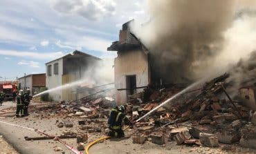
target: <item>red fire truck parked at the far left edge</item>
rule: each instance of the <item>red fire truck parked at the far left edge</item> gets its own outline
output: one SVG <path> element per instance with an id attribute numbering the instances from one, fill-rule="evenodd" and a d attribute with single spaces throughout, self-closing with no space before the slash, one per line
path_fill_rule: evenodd
<path id="1" fill-rule="evenodd" d="M 6 94 L 6 99 L 12 99 L 13 91 L 17 90 L 16 82 L 3 81 L 0 83 L 0 91 Z"/>

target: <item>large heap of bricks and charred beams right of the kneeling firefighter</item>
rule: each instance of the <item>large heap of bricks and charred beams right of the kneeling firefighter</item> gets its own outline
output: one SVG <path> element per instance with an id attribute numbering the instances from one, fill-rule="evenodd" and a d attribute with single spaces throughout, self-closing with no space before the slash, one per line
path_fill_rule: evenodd
<path id="1" fill-rule="evenodd" d="M 253 120 L 252 110 L 241 101 L 228 99 L 224 88 L 228 85 L 219 84 L 228 77 L 228 74 L 224 74 L 212 79 L 200 91 L 193 92 L 193 99 L 184 94 L 169 106 L 158 108 L 152 115 L 137 122 L 133 142 L 143 144 L 148 140 L 165 144 L 176 141 L 177 144 L 209 147 L 240 142 L 241 146 L 256 148 L 255 135 L 248 135 L 248 132 L 255 134 L 256 130 L 256 126 L 250 124 Z M 129 115 L 134 121 L 174 95 L 167 90 L 158 90 L 149 96 L 148 102 L 140 102 L 145 95 L 143 93 L 133 95 L 128 104 Z"/>

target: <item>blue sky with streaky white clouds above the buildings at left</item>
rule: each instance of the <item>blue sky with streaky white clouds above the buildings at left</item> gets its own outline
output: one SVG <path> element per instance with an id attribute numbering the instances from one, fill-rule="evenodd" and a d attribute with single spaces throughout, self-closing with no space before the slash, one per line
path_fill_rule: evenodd
<path id="1" fill-rule="evenodd" d="M 0 81 L 45 73 L 45 63 L 80 50 L 100 58 L 122 23 L 147 20 L 146 0 L 1 0 Z"/>

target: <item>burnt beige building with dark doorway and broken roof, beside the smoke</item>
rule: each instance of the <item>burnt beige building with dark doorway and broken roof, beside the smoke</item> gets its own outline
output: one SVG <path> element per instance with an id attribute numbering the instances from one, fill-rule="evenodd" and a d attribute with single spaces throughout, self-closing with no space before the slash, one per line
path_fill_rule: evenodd
<path id="1" fill-rule="evenodd" d="M 149 51 L 129 30 L 129 22 L 122 25 L 119 41 L 115 41 L 107 50 L 118 51 L 114 61 L 116 102 L 127 102 L 127 97 L 138 93 L 151 82 Z"/>

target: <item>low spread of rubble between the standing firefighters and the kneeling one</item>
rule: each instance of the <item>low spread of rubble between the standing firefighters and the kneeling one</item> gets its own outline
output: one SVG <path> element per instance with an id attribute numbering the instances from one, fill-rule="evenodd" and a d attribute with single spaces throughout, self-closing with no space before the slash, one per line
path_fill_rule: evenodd
<path id="1" fill-rule="evenodd" d="M 35 110 L 41 118 L 51 117 L 82 117 L 82 118 L 107 118 L 111 107 L 116 106 L 112 97 L 102 95 L 84 97 L 73 102 L 61 102 L 42 106 Z M 42 114 L 48 113 L 48 114 Z"/>

